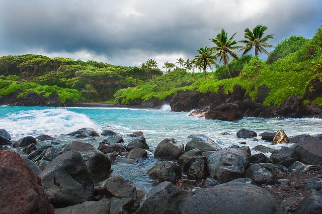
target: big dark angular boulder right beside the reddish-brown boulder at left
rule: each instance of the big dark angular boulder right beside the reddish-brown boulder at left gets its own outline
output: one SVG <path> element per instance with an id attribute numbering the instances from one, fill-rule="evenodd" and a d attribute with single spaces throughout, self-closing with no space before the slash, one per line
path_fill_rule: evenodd
<path id="1" fill-rule="evenodd" d="M 94 183 L 85 161 L 77 151 L 67 151 L 40 174 L 41 184 L 55 208 L 93 200 Z"/>

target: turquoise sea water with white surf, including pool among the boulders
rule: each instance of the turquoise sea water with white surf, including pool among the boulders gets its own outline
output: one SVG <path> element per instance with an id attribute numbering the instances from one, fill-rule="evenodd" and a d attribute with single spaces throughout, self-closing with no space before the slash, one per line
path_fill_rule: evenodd
<path id="1" fill-rule="evenodd" d="M 245 118 L 237 122 L 226 122 L 205 120 L 188 116 L 188 112 L 176 113 L 170 110 L 169 105 L 160 109 L 0 106 L 0 129 L 7 130 L 13 141 L 25 136 L 46 134 L 57 138 L 55 141 L 60 144 L 78 140 L 91 143 L 95 148 L 106 137 L 76 139 L 64 134 L 84 127 L 94 128 L 99 134 L 104 129 L 110 129 L 119 133 L 126 142 L 131 139 L 128 134 L 142 131 L 150 149 L 155 150 L 165 138 L 175 138 L 186 144 L 190 140 L 188 136 L 195 134 L 207 135 L 222 148 L 240 145 L 240 142 L 246 142 L 251 149 L 259 144 L 280 148 L 281 145 L 270 145 L 271 142 L 262 141 L 260 137 L 257 137 L 258 142 L 254 139 L 238 139 L 236 132 L 248 129 L 259 135 L 265 131 L 284 130 L 291 137 L 298 134 L 320 134 L 322 127 L 321 119 Z M 222 135 L 222 132 L 229 135 Z M 148 159 L 141 159 L 135 164 L 115 163 L 112 166 L 112 176 L 121 175 L 133 181 L 138 189 L 148 191 L 152 188 L 152 180 L 146 175 L 146 171 L 159 161 L 150 152 Z"/>

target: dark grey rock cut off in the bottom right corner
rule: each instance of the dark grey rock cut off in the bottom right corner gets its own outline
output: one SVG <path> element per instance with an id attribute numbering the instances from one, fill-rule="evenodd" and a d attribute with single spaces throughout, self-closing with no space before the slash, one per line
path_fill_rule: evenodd
<path id="1" fill-rule="evenodd" d="M 310 195 L 299 201 L 296 213 L 322 213 L 322 194 L 312 191 Z"/>

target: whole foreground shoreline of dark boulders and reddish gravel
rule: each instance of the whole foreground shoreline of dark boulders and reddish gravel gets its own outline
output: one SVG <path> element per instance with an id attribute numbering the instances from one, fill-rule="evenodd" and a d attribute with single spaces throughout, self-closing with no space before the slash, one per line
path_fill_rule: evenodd
<path id="1" fill-rule="evenodd" d="M 320 134 L 290 138 L 282 130 L 260 134 L 272 144 L 293 143 L 274 151 L 261 145 L 251 151 L 239 143 L 221 148 L 205 135 L 191 136 L 186 145 L 166 138 L 154 151 L 142 132 L 129 134 L 128 142 L 112 130 L 99 134 L 83 128 L 67 135 L 106 139 L 98 148 L 77 140 L 60 145 L 47 135 L 12 142 L 10 134 L 0 130 L 2 213 L 322 211 Z M 236 137 L 255 140 L 257 133 L 241 129 Z M 151 154 L 161 162 L 146 172 L 155 185 L 148 193 L 113 176 L 111 166 L 119 157 L 136 164 Z"/>

